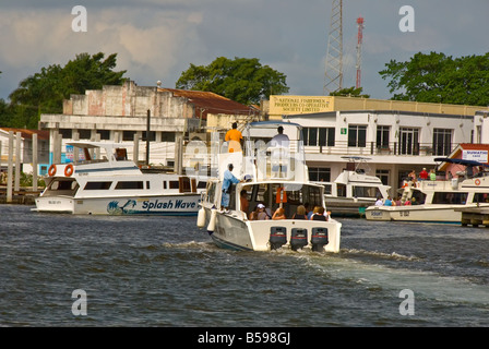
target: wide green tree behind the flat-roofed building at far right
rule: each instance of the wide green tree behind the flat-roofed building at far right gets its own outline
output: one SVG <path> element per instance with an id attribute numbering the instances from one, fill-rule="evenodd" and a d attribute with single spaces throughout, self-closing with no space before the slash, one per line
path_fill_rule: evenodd
<path id="1" fill-rule="evenodd" d="M 395 100 L 489 105 L 489 53 L 454 59 L 419 52 L 406 62 L 391 60 L 379 73 Z"/>

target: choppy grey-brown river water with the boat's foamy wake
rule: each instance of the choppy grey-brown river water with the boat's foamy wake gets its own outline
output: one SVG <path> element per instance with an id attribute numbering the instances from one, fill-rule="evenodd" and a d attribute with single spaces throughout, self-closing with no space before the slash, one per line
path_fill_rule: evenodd
<path id="1" fill-rule="evenodd" d="M 195 217 L 31 207 L 0 205 L 0 326 L 489 325 L 485 228 L 349 218 L 338 254 L 234 252 Z"/>

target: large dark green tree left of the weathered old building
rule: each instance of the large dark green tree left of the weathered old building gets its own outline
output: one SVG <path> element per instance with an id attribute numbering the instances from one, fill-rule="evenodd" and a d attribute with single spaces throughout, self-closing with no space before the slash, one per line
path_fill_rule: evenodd
<path id="1" fill-rule="evenodd" d="M 63 99 L 103 85 L 120 85 L 126 71 L 115 72 L 117 53 L 104 60 L 104 53 L 76 55 L 64 67 L 52 64 L 24 79 L 9 96 L 11 127 L 37 129 L 41 113 L 60 113 Z"/>

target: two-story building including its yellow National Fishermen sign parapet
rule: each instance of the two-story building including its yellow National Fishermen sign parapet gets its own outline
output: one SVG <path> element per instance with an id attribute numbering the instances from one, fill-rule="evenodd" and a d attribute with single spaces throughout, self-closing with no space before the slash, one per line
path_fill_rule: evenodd
<path id="1" fill-rule="evenodd" d="M 357 156 L 394 191 L 412 170 L 436 169 L 434 158 L 458 144 L 489 139 L 481 107 L 332 96 L 271 96 L 266 107 L 270 119 L 303 127 L 314 181 L 335 180 L 347 167 L 345 157 Z"/>

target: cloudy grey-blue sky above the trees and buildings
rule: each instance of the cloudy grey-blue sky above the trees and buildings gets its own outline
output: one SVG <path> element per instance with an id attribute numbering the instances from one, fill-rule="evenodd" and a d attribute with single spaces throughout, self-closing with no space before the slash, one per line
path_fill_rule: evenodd
<path id="1" fill-rule="evenodd" d="M 258 58 L 287 76 L 289 95 L 324 95 L 333 0 L 0 0 L 0 98 L 50 64 L 79 53 L 117 53 L 140 86 L 175 87 L 190 64 Z M 86 21 L 73 8 L 86 10 Z M 399 14 L 404 5 L 414 15 Z M 430 51 L 489 51 L 489 0 L 344 0 L 344 87 L 356 83 L 356 20 L 365 19 L 361 86 L 389 99 L 379 71 Z M 406 20 L 414 19 L 410 22 Z M 414 32 L 403 32 L 402 24 Z M 413 23 L 412 23 L 413 22 Z M 86 23 L 86 32 L 73 31 Z"/>

